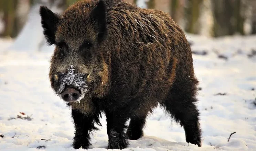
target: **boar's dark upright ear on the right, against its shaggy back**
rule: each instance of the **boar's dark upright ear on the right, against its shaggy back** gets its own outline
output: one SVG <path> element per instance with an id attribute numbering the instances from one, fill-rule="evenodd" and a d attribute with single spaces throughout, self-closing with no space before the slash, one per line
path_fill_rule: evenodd
<path id="1" fill-rule="evenodd" d="M 101 41 L 107 31 L 106 27 L 106 4 L 103 0 L 99 0 L 96 7 L 91 12 L 91 18 L 98 24 L 98 40 Z"/>

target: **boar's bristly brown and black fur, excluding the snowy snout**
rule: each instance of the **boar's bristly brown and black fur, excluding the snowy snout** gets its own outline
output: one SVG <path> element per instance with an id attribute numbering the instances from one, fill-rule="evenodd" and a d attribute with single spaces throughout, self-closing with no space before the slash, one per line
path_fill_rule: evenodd
<path id="1" fill-rule="evenodd" d="M 49 73 L 52 88 L 58 88 L 54 75 L 71 65 L 90 74 L 88 95 L 80 104 L 69 103 L 74 148 L 88 148 L 101 112 L 107 118 L 108 148 L 127 148 L 127 138 L 143 136 L 146 117 L 158 104 L 184 127 L 187 142 L 201 146 L 190 45 L 167 13 L 122 0 L 82 0 L 58 18 L 45 8 L 40 12 L 45 37 L 56 45 Z"/>

